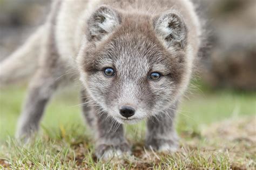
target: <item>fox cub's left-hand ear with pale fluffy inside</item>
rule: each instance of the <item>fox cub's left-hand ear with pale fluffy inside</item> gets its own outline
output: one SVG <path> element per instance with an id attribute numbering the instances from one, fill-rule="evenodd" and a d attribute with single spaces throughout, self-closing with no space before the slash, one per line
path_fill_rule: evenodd
<path id="1" fill-rule="evenodd" d="M 120 25 L 119 13 L 108 6 L 100 6 L 87 22 L 87 38 L 100 40 Z"/>

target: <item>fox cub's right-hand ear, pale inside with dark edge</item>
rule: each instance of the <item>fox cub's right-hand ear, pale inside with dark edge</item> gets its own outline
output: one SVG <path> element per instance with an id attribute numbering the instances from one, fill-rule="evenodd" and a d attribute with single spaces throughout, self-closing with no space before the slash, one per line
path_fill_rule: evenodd
<path id="1" fill-rule="evenodd" d="M 187 41 L 187 29 L 183 19 L 176 13 L 165 13 L 153 19 L 153 27 L 167 48 L 184 48 Z"/>

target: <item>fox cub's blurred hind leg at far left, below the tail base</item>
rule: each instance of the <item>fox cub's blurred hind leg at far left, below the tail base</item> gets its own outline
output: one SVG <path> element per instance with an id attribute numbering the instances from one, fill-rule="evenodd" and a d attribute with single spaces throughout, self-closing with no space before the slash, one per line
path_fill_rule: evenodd
<path id="1" fill-rule="evenodd" d="M 67 79 L 64 62 L 59 58 L 53 41 L 45 47 L 41 63 L 30 82 L 25 105 L 18 121 L 16 136 L 30 137 L 38 130 L 44 109 L 60 82 Z M 26 139 L 25 139 L 26 140 Z"/>

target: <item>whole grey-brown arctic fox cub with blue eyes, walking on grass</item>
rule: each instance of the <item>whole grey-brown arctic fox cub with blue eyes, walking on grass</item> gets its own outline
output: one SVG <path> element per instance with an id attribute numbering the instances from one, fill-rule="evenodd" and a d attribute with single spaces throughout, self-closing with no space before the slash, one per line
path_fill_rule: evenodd
<path id="1" fill-rule="evenodd" d="M 129 153 L 122 124 L 143 119 L 145 145 L 175 151 L 173 119 L 200 36 L 189 0 L 53 1 L 45 24 L 0 63 L 1 84 L 34 74 L 17 137 L 28 139 L 54 91 L 79 78 L 97 157 Z"/>

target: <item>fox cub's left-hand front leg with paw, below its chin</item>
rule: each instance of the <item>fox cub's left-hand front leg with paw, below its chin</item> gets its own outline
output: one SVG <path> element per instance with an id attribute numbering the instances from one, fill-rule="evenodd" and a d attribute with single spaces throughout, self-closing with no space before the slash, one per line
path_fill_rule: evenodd
<path id="1" fill-rule="evenodd" d="M 99 108 L 91 108 L 90 116 L 95 116 L 96 129 L 96 155 L 98 158 L 109 159 L 113 156 L 120 156 L 130 153 L 130 146 L 127 143 L 122 124 L 119 124 L 112 117 L 107 117 L 107 112 Z M 89 116 L 86 114 L 86 116 Z"/>

